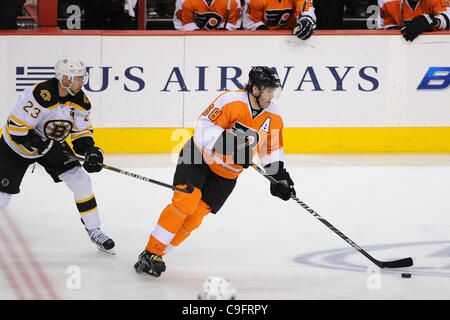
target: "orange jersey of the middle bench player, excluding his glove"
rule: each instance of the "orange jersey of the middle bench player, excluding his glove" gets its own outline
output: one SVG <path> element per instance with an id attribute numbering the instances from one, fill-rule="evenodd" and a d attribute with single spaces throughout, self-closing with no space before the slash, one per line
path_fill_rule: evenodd
<path id="1" fill-rule="evenodd" d="M 316 22 L 312 0 L 246 0 L 243 26 L 246 30 L 263 24 L 270 30 L 292 29 L 300 14 Z"/>

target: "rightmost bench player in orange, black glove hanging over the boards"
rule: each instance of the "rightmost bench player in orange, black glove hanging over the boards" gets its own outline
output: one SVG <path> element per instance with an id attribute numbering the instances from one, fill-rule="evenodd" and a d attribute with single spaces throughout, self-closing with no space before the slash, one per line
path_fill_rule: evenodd
<path id="1" fill-rule="evenodd" d="M 378 0 L 378 5 L 382 27 L 401 28 L 407 41 L 423 32 L 450 29 L 449 0 Z"/>

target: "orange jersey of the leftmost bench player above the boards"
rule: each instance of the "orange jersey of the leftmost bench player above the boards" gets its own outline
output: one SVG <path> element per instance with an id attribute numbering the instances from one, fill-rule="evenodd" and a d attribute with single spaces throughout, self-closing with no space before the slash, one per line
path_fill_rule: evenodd
<path id="1" fill-rule="evenodd" d="M 240 0 L 177 0 L 173 24 L 177 30 L 213 30 L 225 26 L 227 30 L 241 27 Z M 228 17 L 228 20 L 227 20 Z"/>

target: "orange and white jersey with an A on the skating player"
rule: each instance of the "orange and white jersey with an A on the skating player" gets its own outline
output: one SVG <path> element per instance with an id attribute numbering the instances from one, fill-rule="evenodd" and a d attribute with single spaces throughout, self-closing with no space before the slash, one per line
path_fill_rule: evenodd
<path id="1" fill-rule="evenodd" d="M 252 154 L 258 153 L 262 166 L 284 161 L 283 120 L 278 108 L 270 104 L 253 117 L 247 92 L 227 91 L 206 108 L 194 130 L 194 142 L 213 172 L 227 179 L 235 179 L 243 170 L 241 165 L 233 163 L 231 155 L 213 151 L 222 132 L 233 127 L 244 129 L 251 137 Z"/>

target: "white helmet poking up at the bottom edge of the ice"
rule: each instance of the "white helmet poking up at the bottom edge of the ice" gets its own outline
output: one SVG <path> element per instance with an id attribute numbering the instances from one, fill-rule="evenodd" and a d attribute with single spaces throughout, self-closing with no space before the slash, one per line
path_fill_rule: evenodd
<path id="1" fill-rule="evenodd" d="M 199 300 L 234 300 L 236 289 L 227 279 L 209 276 L 200 290 Z"/>

